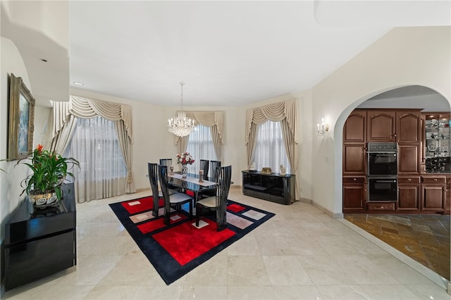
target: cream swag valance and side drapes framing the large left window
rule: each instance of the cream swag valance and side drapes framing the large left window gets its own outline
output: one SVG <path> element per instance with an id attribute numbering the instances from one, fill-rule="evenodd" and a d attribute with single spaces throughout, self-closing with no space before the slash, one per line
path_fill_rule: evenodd
<path id="1" fill-rule="evenodd" d="M 131 106 L 80 96 L 70 96 L 68 102 L 52 101 L 52 106 L 54 111 L 54 138 L 51 149 L 58 150 L 58 153 L 62 153 L 66 149 L 76 118 L 87 119 L 100 115 L 102 118 L 115 121 L 119 144 L 128 170 L 125 193 L 136 192 L 132 173 L 133 133 Z"/>

